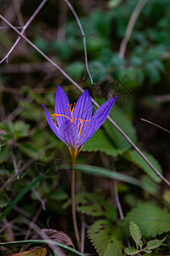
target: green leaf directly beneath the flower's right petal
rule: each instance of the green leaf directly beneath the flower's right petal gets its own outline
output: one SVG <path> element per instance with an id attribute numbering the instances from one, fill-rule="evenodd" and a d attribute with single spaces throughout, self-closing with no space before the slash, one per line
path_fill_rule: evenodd
<path id="1" fill-rule="evenodd" d="M 105 131 L 102 129 L 96 131 L 93 137 L 83 145 L 82 151 L 101 151 L 112 156 L 117 156 L 124 152 L 122 149 L 115 148 L 114 143 L 111 143 L 110 138 L 107 137 Z"/>

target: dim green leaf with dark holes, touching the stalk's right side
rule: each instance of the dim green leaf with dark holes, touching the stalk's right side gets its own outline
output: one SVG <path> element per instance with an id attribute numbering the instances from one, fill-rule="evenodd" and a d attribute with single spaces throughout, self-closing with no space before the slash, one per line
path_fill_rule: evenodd
<path id="1" fill-rule="evenodd" d="M 91 216 L 104 216 L 110 220 L 116 220 L 116 210 L 101 195 L 82 193 L 77 195 L 76 201 L 82 206 L 77 211 Z"/>

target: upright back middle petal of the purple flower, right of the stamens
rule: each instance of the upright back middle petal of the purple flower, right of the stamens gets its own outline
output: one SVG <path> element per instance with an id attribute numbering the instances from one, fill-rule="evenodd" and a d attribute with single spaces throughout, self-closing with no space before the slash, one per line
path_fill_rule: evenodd
<path id="1" fill-rule="evenodd" d="M 88 90 L 85 90 L 82 93 L 82 96 L 79 97 L 77 104 L 74 108 L 73 119 L 76 119 L 74 120 L 74 123 L 78 125 L 80 123 L 78 119 L 83 119 L 83 120 L 91 119 L 92 113 L 93 113 L 92 100 L 88 94 Z"/>

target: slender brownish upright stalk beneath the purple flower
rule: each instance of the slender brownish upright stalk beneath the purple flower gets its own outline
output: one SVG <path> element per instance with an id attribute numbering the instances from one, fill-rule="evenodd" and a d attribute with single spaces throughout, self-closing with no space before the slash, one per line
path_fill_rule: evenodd
<path id="1" fill-rule="evenodd" d="M 74 232 L 77 240 L 77 247 L 80 251 L 80 236 L 77 229 L 77 214 L 76 214 L 76 201 L 75 201 L 75 164 L 76 158 L 71 157 L 71 212 Z"/>

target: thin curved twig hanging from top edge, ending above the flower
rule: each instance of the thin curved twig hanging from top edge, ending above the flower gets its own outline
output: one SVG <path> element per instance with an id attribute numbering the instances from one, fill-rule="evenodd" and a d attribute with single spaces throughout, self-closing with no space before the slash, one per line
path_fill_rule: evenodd
<path id="1" fill-rule="evenodd" d="M 82 41 L 83 41 L 83 45 L 84 45 L 84 55 L 85 55 L 86 70 L 88 72 L 88 76 L 90 78 L 91 84 L 93 84 L 94 82 L 93 82 L 93 79 L 92 79 L 92 75 L 91 75 L 91 73 L 89 72 L 89 69 L 88 69 L 88 53 L 87 53 L 87 47 L 86 47 L 86 36 L 85 36 L 84 31 L 83 31 L 82 24 L 80 22 L 80 19 L 78 18 L 78 15 L 77 15 L 75 9 L 72 7 L 71 3 L 68 0 L 65 0 L 65 3 L 71 9 L 72 14 L 75 16 L 75 19 L 77 20 L 77 24 L 78 24 L 78 26 L 80 28 L 81 33 L 82 33 Z"/>

